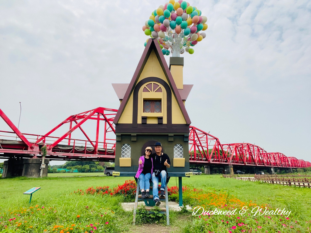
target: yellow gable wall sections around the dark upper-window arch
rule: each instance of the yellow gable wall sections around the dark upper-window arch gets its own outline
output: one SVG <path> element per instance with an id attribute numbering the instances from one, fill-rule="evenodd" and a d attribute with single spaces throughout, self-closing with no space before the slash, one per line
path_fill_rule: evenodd
<path id="1" fill-rule="evenodd" d="M 168 83 L 168 80 L 165 77 L 165 74 L 162 70 L 160 62 L 156 57 L 156 53 L 154 51 L 151 52 L 145 67 L 142 70 L 140 77 L 137 80 L 137 83 L 148 77 L 158 77 Z M 160 84 L 159 84 L 160 85 Z M 163 112 L 163 124 L 167 123 L 167 112 L 166 112 L 166 92 L 162 85 L 160 85 L 163 91 L 163 99 L 162 99 L 162 112 Z M 138 94 L 138 113 L 137 113 L 137 123 L 142 123 L 142 89 L 139 90 Z M 120 117 L 118 123 L 121 124 L 130 124 L 132 123 L 133 117 L 133 93 L 131 94 L 128 103 L 126 104 L 124 111 Z M 157 117 L 147 117 L 148 124 L 157 124 Z M 183 113 L 181 112 L 177 100 L 173 94 L 172 90 L 172 124 L 186 124 L 186 121 L 183 117 Z"/>

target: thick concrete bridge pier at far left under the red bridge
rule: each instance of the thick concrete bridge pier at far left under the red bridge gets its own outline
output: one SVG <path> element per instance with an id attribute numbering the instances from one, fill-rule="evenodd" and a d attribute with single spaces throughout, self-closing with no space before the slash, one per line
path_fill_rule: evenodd
<path id="1" fill-rule="evenodd" d="M 43 169 L 42 177 L 46 177 L 48 176 L 49 162 L 49 159 L 44 159 L 45 166 L 41 168 L 41 158 L 11 158 L 3 163 L 2 178 L 15 176 L 39 178 L 41 169 Z"/>

